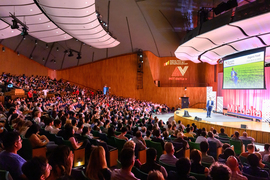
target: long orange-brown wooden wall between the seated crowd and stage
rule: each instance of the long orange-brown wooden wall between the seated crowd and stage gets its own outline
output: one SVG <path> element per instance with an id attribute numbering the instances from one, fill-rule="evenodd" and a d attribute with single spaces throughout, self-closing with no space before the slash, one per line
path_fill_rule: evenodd
<path id="1" fill-rule="evenodd" d="M 183 87 L 156 87 L 153 77 L 158 77 L 158 72 L 152 73 L 150 66 L 158 67 L 158 64 L 152 63 L 149 59 L 153 58 L 153 61 L 157 61 L 157 58 L 150 52 L 144 52 L 144 56 L 146 58 L 143 63 L 143 89 L 140 90 L 136 89 L 137 54 L 113 57 L 56 71 L 56 76 L 57 79 L 70 80 L 93 89 L 102 89 L 106 84 L 111 87 L 112 94 L 165 103 L 170 107 L 180 105 L 179 97 L 184 96 L 185 93 L 190 98 L 190 105 L 198 102 L 205 103 L 205 87 L 188 87 L 187 91 Z"/>

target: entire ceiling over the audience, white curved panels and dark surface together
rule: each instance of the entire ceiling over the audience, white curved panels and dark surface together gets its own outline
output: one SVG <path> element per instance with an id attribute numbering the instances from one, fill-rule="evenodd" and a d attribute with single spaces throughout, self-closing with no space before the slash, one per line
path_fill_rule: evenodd
<path id="1" fill-rule="evenodd" d="M 244 0 L 239 1 L 239 4 L 247 3 Z M 201 7 L 215 7 L 221 2 L 222 0 L 1 0 L 0 43 L 52 69 L 134 53 L 138 49 L 151 51 L 159 57 L 174 56 L 186 31 L 197 26 L 198 10 Z M 94 9 L 102 15 L 102 21 L 108 24 L 113 38 L 106 34 L 96 20 Z M 29 36 L 25 40 L 19 35 L 21 29 L 11 32 L 12 29 L 8 27 L 8 24 L 12 24 L 9 13 L 15 13 L 29 27 Z M 105 45 L 101 41 L 93 43 L 97 37 L 104 38 L 102 41 Z M 112 42 L 110 40 L 114 39 L 120 44 L 107 48 Z M 68 57 L 65 52 L 69 49 L 80 52 L 82 58 L 77 59 L 76 53 L 73 57 Z M 187 59 L 189 57 L 183 60 Z"/>

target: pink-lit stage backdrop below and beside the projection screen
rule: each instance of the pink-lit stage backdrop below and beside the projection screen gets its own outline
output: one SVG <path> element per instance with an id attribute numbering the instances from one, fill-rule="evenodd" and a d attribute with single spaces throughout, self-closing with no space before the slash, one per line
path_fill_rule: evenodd
<path id="1" fill-rule="evenodd" d="M 218 96 L 223 96 L 223 106 L 228 108 L 228 104 L 251 106 L 256 110 L 263 110 L 263 100 L 270 100 L 270 68 L 265 68 L 265 90 L 223 90 L 223 73 L 218 74 Z"/>

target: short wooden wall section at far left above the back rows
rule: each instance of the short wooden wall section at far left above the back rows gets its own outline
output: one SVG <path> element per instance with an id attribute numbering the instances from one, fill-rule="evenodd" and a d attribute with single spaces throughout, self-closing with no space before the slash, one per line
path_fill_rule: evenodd
<path id="1" fill-rule="evenodd" d="M 2 47 L 0 45 L 0 49 Z M 17 53 L 7 47 L 5 47 L 5 52 L 0 51 L 0 73 L 48 76 L 48 71 L 49 68 L 23 55 L 18 56 Z"/>

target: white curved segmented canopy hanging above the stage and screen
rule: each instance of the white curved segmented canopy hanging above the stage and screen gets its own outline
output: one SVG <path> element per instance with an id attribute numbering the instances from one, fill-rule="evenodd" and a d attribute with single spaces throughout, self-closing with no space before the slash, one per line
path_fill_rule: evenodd
<path id="1" fill-rule="evenodd" d="M 231 14 L 232 12 L 228 13 Z M 269 57 L 269 20 L 270 13 L 264 13 L 248 19 L 228 23 L 197 35 L 181 44 L 175 51 L 175 55 L 179 59 L 188 59 L 195 63 L 207 62 L 209 64 L 217 64 L 218 60 L 225 56 L 266 47 L 266 57 Z M 266 62 L 269 62 L 269 60 L 269 58 L 266 58 Z"/>

